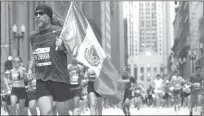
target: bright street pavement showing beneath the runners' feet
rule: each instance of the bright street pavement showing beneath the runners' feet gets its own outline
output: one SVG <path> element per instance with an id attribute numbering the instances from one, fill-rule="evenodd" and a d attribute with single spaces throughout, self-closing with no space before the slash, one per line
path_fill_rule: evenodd
<path id="1" fill-rule="evenodd" d="M 39 111 L 38 111 L 39 113 Z M 89 115 L 89 110 L 82 115 Z M 161 108 L 158 112 L 156 108 L 141 108 L 139 111 L 135 108 L 131 108 L 131 115 L 189 115 L 187 108 L 181 108 L 179 112 L 175 112 L 173 108 Z M 8 115 L 5 111 L 1 109 L 1 115 Z M 30 113 L 29 113 L 30 115 Z M 103 115 L 124 115 L 122 110 L 119 108 L 104 109 Z M 194 112 L 193 115 L 200 115 L 199 112 Z"/>

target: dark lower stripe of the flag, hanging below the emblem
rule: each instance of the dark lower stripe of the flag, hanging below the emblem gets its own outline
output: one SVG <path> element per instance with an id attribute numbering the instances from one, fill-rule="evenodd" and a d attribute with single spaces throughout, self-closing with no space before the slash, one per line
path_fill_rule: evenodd
<path id="1" fill-rule="evenodd" d="M 94 89 L 112 103 L 117 104 L 124 97 L 124 85 L 116 82 L 119 77 L 120 74 L 114 68 L 110 59 L 106 58 L 103 61 L 99 78 L 94 83 Z"/>

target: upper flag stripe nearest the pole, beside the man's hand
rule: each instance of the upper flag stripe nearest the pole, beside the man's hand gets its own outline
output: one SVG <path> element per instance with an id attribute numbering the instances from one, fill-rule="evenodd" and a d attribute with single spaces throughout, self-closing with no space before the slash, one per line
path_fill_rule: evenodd
<path id="1" fill-rule="evenodd" d="M 64 43 L 69 43 L 64 44 L 69 53 L 77 47 L 77 44 L 81 44 L 86 36 L 87 23 L 82 20 L 85 17 L 84 15 L 78 15 L 80 13 L 76 9 L 78 8 L 75 3 L 71 3 L 60 35 L 60 38 L 66 38 L 62 39 Z"/>

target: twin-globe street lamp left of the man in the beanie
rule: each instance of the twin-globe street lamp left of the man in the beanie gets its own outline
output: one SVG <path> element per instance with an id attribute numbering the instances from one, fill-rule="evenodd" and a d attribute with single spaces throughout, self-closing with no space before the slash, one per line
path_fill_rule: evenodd
<path id="1" fill-rule="evenodd" d="M 14 41 L 17 39 L 17 55 L 20 56 L 20 39 L 24 39 L 24 33 L 25 33 L 25 26 L 24 25 L 21 25 L 20 27 L 20 31 L 21 33 L 20 34 L 17 34 L 17 26 L 14 24 L 13 27 L 12 27 L 12 31 L 13 31 L 13 38 L 14 38 Z"/>

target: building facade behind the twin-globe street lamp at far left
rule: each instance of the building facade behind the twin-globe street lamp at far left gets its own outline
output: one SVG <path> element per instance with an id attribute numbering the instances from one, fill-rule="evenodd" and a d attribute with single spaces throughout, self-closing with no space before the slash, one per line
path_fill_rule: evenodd
<path id="1" fill-rule="evenodd" d="M 17 34 L 21 34 L 21 27 L 25 27 L 24 37 L 19 40 L 19 56 L 22 57 L 24 65 L 31 58 L 31 46 L 29 34 L 36 28 L 34 22 L 34 11 L 40 2 L 1 2 L 1 74 L 4 72 L 4 63 L 7 57 L 17 56 L 18 39 L 14 37 L 12 27 L 17 26 Z"/>

